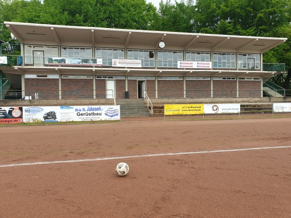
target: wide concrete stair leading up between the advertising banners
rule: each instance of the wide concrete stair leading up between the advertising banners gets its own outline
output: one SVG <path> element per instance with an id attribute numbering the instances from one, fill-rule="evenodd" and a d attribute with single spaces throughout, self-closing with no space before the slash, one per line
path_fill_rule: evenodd
<path id="1" fill-rule="evenodd" d="M 116 99 L 116 105 L 120 105 L 120 117 L 149 117 L 144 99 Z"/>

